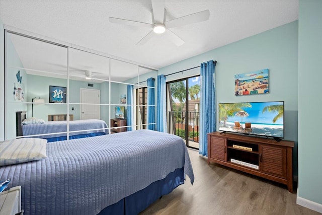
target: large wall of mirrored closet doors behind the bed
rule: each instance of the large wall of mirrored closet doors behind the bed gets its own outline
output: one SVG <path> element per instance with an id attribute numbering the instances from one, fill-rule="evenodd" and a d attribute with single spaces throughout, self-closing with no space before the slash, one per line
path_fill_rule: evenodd
<path id="1" fill-rule="evenodd" d="M 69 139 L 155 125 L 137 120 L 142 104 L 136 92 L 153 89 L 155 96 L 147 80 L 154 82 L 156 70 L 76 47 L 6 31 L 6 139 Z M 143 105 L 154 114 L 154 104 Z M 93 125 L 74 125 L 82 120 Z"/>

